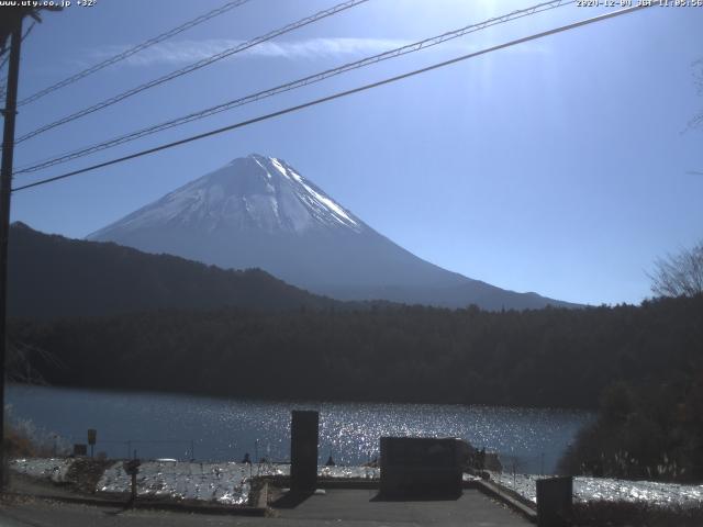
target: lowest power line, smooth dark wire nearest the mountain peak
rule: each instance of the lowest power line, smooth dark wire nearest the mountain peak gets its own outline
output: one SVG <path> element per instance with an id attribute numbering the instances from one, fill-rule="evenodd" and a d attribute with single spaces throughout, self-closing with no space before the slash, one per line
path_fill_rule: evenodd
<path id="1" fill-rule="evenodd" d="M 109 161 L 99 162 L 97 165 L 92 165 L 92 166 L 89 166 L 89 167 L 86 167 L 86 168 L 81 168 L 81 169 L 78 169 L 78 170 L 66 172 L 66 173 L 63 173 L 60 176 L 55 176 L 53 178 L 46 178 L 46 179 L 42 179 L 40 181 L 35 181 L 33 183 L 27 183 L 27 184 L 23 184 L 21 187 L 15 187 L 14 189 L 12 189 L 12 191 L 16 192 L 16 191 L 24 190 L 24 189 L 31 189 L 33 187 L 40 187 L 42 184 L 47 184 L 47 183 L 51 183 L 51 182 L 54 182 L 54 181 L 58 181 L 58 180 L 62 180 L 62 179 L 70 178 L 72 176 L 77 176 L 79 173 L 89 172 L 89 171 L 92 171 L 92 170 L 97 170 L 99 168 L 104 168 L 104 167 L 109 167 L 111 165 L 116 165 L 116 164 L 120 164 L 120 162 L 123 162 L 123 161 L 127 161 L 130 159 L 135 159 L 137 157 L 143 157 L 143 156 L 146 156 L 146 155 L 149 155 L 149 154 L 155 154 L 155 153 L 160 152 L 160 150 L 174 148 L 176 146 L 185 145 L 187 143 L 192 143 L 192 142 L 198 141 L 198 139 L 203 139 L 205 137 L 211 137 L 213 135 L 222 134 L 224 132 L 230 132 L 232 130 L 242 128 L 244 126 L 248 126 L 250 124 L 259 123 L 261 121 L 268 121 L 268 120 L 274 119 L 274 117 L 286 115 L 288 113 L 293 113 L 293 112 L 297 112 L 299 110 L 303 110 L 305 108 L 310 108 L 310 106 L 314 106 L 314 105 L 317 105 L 317 104 L 322 104 L 324 102 L 328 102 L 328 101 L 332 101 L 332 100 L 335 100 L 335 99 L 341 99 L 343 97 L 347 97 L 347 96 L 350 96 L 350 94 L 354 94 L 354 93 L 359 93 L 361 91 L 367 91 L 367 90 L 370 90 L 372 88 L 378 88 L 380 86 L 390 85 L 391 82 L 395 82 L 395 81 L 399 81 L 399 80 L 402 80 L 402 79 L 406 79 L 406 78 L 414 77 L 414 76 L 417 76 L 417 75 L 421 75 L 421 74 L 425 74 L 427 71 L 439 69 L 439 68 L 443 68 L 445 66 L 449 66 L 449 65 L 453 65 L 453 64 L 457 64 L 457 63 L 467 60 L 469 58 L 478 57 L 480 55 L 486 55 L 488 53 L 496 52 L 499 49 L 504 49 L 506 47 L 516 46 L 516 45 L 523 44 L 525 42 L 535 41 L 537 38 L 543 38 L 545 36 L 554 35 L 556 33 L 561 33 L 561 32 L 573 30 L 576 27 L 580 27 L 580 26 L 583 26 L 583 25 L 589 25 L 589 24 L 593 24 L 595 22 L 601 22 L 603 20 L 612 19 L 614 16 L 618 16 L 618 15 L 622 15 L 622 14 L 632 13 L 632 12 L 638 11 L 640 9 L 650 8 L 652 5 L 655 5 L 654 2 L 650 3 L 650 4 L 643 3 L 643 4 L 639 4 L 639 5 L 634 5 L 632 8 L 625 8 L 625 9 L 621 9 L 621 10 L 613 11 L 613 12 L 610 12 L 610 13 L 604 13 L 604 14 L 601 14 L 601 15 L 598 15 L 598 16 L 593 16 L 591 19 L 581 20 L 579 22 L 573 22 L 571 24 L 562 25 L 562 26 L 559 26 L 559 27 L 556 27 L 556 29 L 553 29 L 553 30 L 544 31 L 544 32 L 540 32 L 540 33 L 535 33 L 535 34 L 529 35 L 529 36 L 524 36 L 522 38 L 517 38 L 517 40 L 510 41 L 510 42 L 506 42 L 506 43 L 503 43 L 503 44 L 499 44 L 496 46 L 492 46 L 492 47 L 488 47 L 488 48 L 484 48 L 484 49 L 481 49 L 481 51 L 478 51 L 478 52 L 473 52 L 473 53 L 469 53 L 469 54 L 466 54 L 466 55 L 461 55 L 459 57 L 455 57 L 455 58 L 451 58 L 449 60 L 444 60 L 442 63 L 433 64 L 431 66 L 426 66 L 424 68 L 415 69 L 413 71 L 409 71 L 409 72 L 405 72 L 405 74 L 402 74 L 402 75 L 398 75 L 395 77 L 389 77 L 389 78 L 386 78 L 383 80 L 379 80 L 377 82 L 371 82 L 369 85 L 364 85 L 364 86 L 360 86 L 360 87 L 357 87 L 357 88 L 353 88 L 350 90 L 339 91 L 339 92 L 333 93 L 332 96 L 326 96 L 326 97 L 323 97 L 323 98 L 320 98 L 320 99 L 315 99 L 313 101 L 309 101 L 309 102 L 305 102 L 305 103 L 302 103 L 302 104 L 298 104 L 298 105 L 294 105 L 294 106 L 289 106 L 289 108 L 286 108 L 283 110 L 279 110 L 277 112 L 267 113 L 265 115 L 259 115 L 258 117 L 249 119 L 249 120 L 246 120 L 246 121 L 241 121 L 238 123 L 231 124 L 228 126 L 211 130 L 210 132 L 205 132 L 205 133 L 198 134 L 198 135 L 192 135 L 190 137 L 186 137 L 183 139 L 175 141 L 172 143 L 166 143 L 164 145 L 156 146 L 154 148 L 147 148 L 145 150 L 141 150 L 141 152 L 137 152 L 137 153 L 134 153 L 134 154 L 130 154 L 127 156 L 119 157 L 119 158 L 115 158 L 115 159 L 111 159 Z"/>

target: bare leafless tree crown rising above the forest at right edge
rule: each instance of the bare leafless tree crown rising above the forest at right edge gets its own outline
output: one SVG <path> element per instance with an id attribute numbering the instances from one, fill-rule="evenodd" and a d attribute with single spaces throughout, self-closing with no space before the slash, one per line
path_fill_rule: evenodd
<path id="1" fill-rule="evenodd" d="M 658 258 L 654 273 L 648 276 L 651 291 L 658 296 L 694 296 L 703 293 L 703 240 L 691 249 Z"/>

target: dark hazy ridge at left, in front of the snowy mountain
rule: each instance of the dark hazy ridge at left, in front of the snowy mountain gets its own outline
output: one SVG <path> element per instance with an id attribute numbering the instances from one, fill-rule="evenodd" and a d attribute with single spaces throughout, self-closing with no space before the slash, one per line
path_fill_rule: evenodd
<path id="1" fill-rule="evenodd" d="M 270 274 L 223 270 L 114 244 L 10 228 L 9 313 L 15 317 L 108 315 L 155 309 L 246 307 L 263 311 L 330 307 Z"/>

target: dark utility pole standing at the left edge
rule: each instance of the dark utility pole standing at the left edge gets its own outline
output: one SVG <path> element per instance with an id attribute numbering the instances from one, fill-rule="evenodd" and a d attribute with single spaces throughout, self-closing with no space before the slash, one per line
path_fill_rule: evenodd
<path id="1" fill-rule="evenodd" d="M 58 11 L 60 8 L 48 8 Z M 14 121 L 18 113 L 18 83 L 20 80 L 20 47 L 22 21 L 30 15 L 41 22 L 33 8 L 0 8 L 0 46 L 5 49 L 10 38 L 8 88 L 2 110 L 2 165 L 0 166 L 0 490 L 8 480 L 8 460 L 4 448 L 4 378 L 8 351 L 8 237 L 10 234 L 10 194 L 12 192 L 12 158 L 14 155 Z"/>

